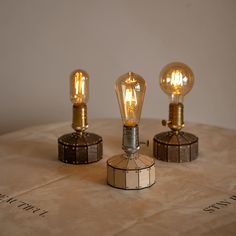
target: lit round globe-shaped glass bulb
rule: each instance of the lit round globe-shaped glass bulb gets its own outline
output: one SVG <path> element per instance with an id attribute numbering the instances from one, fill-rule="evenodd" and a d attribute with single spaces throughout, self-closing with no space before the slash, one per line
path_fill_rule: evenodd
<path id="1" fill-rule="evenodd" d="M 193 84 L 194 74 L 183 63 L 170 63 L 160 73 L 160 87 L 171 97 L 172 103 L 183 102 L 183 97 L 192 89 Z"/>

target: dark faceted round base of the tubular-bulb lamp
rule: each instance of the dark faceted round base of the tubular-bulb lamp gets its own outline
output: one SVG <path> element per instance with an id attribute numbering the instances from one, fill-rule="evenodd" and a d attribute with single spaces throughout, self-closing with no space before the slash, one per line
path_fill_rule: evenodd
<path id="1" fill-rule="evenodd" d="M 102 159 L 102 137 L 93 133 L 65 134 L 58 138 L 58 159 L 69 164 L 88 164 Z"/>

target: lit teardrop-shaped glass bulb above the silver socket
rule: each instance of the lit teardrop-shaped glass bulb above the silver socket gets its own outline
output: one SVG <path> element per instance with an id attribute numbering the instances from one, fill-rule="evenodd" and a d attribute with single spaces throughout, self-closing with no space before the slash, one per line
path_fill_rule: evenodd
<path id="1" fill-rule="evenodd" d="M 116 94 L 125 126 L 138 125 L 145 91 L 145 80 L 133 72 L 120 76 L 116 81 Z"/>

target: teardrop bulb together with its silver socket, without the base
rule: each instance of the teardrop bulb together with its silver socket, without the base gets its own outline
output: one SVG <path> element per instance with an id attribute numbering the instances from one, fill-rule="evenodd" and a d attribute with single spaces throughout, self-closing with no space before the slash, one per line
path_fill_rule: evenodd
<path id="1" fill-rule="evenodd" d="M 133 158 L 139 149 L 138 123 L 145 91 L 145 80 L 133 72 L 120 76 L 116 81 L 116 95 L 124 124 L 122 148 L 128 158 Z"/>

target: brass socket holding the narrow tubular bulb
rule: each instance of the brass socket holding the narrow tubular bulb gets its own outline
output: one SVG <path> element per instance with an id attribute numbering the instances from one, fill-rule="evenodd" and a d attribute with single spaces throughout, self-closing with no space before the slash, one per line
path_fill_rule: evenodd
<path id="1" fill-rule="evenodd" d="M 87 105 L 85 103 L 73 105 L 72 128 L 77 132 L 83 132 L 88 128 Z"/>

